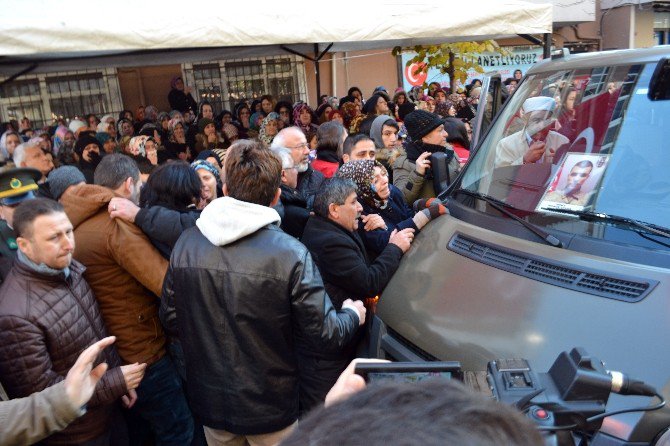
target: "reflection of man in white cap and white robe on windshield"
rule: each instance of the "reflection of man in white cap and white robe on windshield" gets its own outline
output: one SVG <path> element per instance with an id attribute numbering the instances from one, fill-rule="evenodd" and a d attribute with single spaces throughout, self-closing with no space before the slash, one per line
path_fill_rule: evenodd
<path id="1" fill-rule="evenodd" d="M 532 97 L 524 101 L 524 127 L 498 142 L 496 167 L 553 161 L 556 150 L 570 142 L 565 136 L 551 130 L 555 123 L 555 119 L 551 117 L 554 108 L 556 101 L 547 96 Z"/>

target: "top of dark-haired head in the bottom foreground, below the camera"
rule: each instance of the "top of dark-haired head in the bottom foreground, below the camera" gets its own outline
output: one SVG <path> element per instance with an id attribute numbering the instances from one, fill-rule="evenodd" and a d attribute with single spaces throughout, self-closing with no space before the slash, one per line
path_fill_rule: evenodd
<path id="1" fill-rule="evenodd" d="M 444 379 L 373 384 L 300 421 L 283 446 L 543 444 L 535 426 L 510 406 Z"/>

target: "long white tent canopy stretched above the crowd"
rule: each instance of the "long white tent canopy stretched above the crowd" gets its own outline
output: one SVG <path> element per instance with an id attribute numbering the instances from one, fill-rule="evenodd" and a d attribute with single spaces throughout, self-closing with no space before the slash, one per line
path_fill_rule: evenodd
<path id="1" fill-rule="evenodd" d="M 207 54 L 314 55 L 394 46 L 483 40 L 552 30 L 550 3 L 480 0 L 256 1 L 184 4 L 117 0 L 14 2 L 0 16 L 0 75 L 71 67 L 151 65 Z M 455 13 L 457 11 L 457 13 Z M 142 57 L 150 55 L 150 57 Z M 197 55 L 197 56 L 196 56 Z M 163 62 L 161 62 L 163 61 Z"/>

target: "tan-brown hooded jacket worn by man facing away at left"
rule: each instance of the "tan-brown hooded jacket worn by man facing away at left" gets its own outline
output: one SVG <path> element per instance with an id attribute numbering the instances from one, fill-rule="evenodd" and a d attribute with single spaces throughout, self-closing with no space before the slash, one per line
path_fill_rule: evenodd
<path id="1" fill-rule="evenodd" d="M 68 189 L 61 203 L 74 226 L 75 258 L 86 265 L 100 312 L 125 364 L 151 365 L 165 355 L 158 307 L 167 261 L 135 225 L 109 218 L 116 194 L 82 184 Z"/>

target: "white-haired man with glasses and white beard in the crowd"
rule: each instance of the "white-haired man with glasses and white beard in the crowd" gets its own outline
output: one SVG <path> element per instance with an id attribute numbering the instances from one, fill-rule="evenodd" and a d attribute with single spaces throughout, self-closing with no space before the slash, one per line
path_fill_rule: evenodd
<path id="1" fill-rule="evenodd" d="M 305 134 L 298 127 L 287 127 L 272 140 L 271 148 L 285 147 L 291 151 L 291 156 L 298 171 L 298 187 L 307 201 L 307 209 L 312 209 L 314 196 L 319 191 L 325 177 L 318 170 L 312 169 L 309 162 L 309 144 Z"/>

